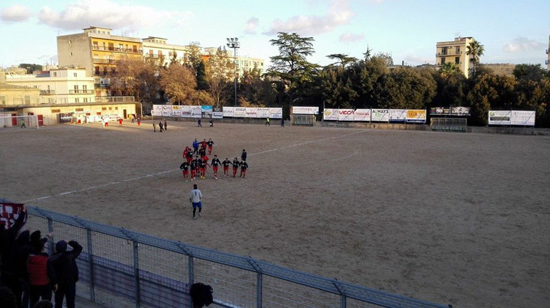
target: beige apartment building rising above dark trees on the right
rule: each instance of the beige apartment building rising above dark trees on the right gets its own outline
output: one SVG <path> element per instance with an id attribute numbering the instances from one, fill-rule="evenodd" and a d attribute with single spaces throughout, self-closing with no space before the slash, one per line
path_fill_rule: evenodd
<path id="1" fill-rule="evenodd" d="M 472 67 L 470 58 L 473 57 L 468 56 L 466 51 L 467 45 L 470 45 L 473 40 L 474 38 L 470 36 L 465 38 L 457 37 L 454 40 L 446 42 L 437 42 L 435 53 L 437 69 L 441 69 L 445 63 L 452 62 L 459 66 L 464 75 L 468 77 L 470 68 Z"/>

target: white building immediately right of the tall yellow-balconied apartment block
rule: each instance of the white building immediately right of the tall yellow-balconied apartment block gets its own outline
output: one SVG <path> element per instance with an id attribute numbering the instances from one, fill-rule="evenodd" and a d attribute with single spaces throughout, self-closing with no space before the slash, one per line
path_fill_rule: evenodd
<path id="1" fill-rule="evenodd" d="M 188 47 L 183 45 L 166 44 L 166 38 L 149 36 L 143 38 L 143 57 L 162 59 L 162 64 L 168 66 L 173 57 L 179 63 L 184 62 Z"/>

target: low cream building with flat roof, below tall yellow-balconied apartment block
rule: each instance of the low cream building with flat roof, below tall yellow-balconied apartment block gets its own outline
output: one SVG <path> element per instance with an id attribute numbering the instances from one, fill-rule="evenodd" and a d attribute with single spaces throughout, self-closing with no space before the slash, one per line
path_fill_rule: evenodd
<path id="1" fill-rule="evenodd" d="M 85 69 L 52 69 L 45 74 L 7 75 L 5 83 L 38 88 L 44 104 L 93 103 L 94 78 Z"/>

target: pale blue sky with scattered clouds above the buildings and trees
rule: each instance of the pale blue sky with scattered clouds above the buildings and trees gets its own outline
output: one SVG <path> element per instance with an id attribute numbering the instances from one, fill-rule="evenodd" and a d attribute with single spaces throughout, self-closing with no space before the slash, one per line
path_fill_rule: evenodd
<path id="1" fill-rule="evenodd" d="M 367 47 L 395 64 L 435 62 L 436 43 L 473 36 L 485 63 L 542 64 L 549 48 L 549 0 L 0 0 L 0 67 L 56 63 L 56 36 L 88 26 L 111 34 L 168 38 L 167 43 L 219 47 L 239 38 L 239 56 L 278 54 L 277 32 L 314 38 L 308 60 L 329 54 L 361 58 Z"/>

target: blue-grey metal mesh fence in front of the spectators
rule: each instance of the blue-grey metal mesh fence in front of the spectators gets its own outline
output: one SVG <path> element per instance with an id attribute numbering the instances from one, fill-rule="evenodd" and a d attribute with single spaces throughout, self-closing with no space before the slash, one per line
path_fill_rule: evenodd
<path id="1" fill-rule="evenodd" d="M 83 246 L 77 294 L 107 307 L 192 307 L 195 282 L 212 286 L 214 307 L 447 307 L 33 206 L 28 213 L 25 228 L 54 232 L 49 252 L 61 239 Z"/>

